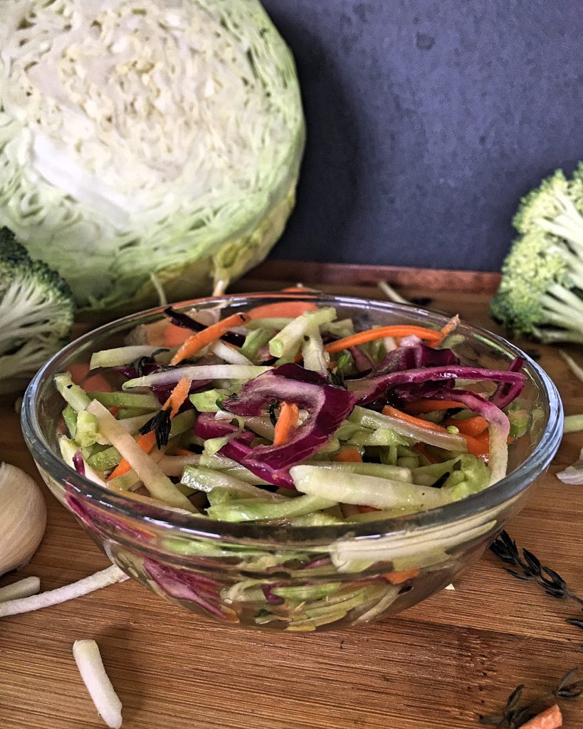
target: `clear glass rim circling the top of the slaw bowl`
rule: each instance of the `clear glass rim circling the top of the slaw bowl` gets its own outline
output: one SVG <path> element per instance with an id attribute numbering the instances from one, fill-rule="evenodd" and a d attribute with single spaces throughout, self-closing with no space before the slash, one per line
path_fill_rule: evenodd
<path id="1" fill-rule="evenodd" d="M 407 316 L 413 316 L 425 321 L 431 320 L 433 324 L 445 324 L 450 319 L 446 313 L 436 310 L 420 308 L 415 305 L 394 303 L 351 297 L 343 295 L 312 292 L 307 289 L 303 292 L 254 292 L 249 294 L 224 295 L 219 297 L 203 297 L 192 300 L 185 300 L 173 303 L 172 307 L 178 310 L 192 308 L 195 305 L 245 305 L 257 299 L 266 300 L 310 300 L 315 303 L 328 303 L 329 305 L 345 305 L 356 308 L 375 308 L 388 313 L 402 312 Z M 495 507 L 509 502 L 524 491 L 544 470 L 549 466 L 560 443 L 563 434 L 563 407 L 555 383 L 549 375 L 525 354 L 520 348 L 505 340 L 504 338 L 490 332 L 484 327 L 477 327 L 461 321 L 460 329 L 467 330 L 472 335 L 481 335 L 489 340 L 488 343 L 504 349 L 514 356 L 521 356 L 535 376 L 536 386 L 547 400 L 549 418 L 541 435 L 541 440 L 536 450 L 528 456 L 516 469 L 506 475 L 498 483 L 485 488 L 477 494 L 461 499 L 458 502 L 445 504 L 445 506 L 418 512 L 415 514 L 397 516 L 390 519 L 378 521 L 367 521 L 360 523 L 342 523 L 326 526 L 286 526 L 270 525 L 261 523 L 215 521 L 208 518 L 200 518 L 196 515 L 182 515 L 168 512 L 162 507 L 150 506 L 149 504 L 136 503 L 125 496 L 107 491 L 93 481 L 79 475 L 67 466 L 60 456 L 53 451 L 42 433 L 36 408 L 36 396 L 47 380 L 52 370 L 53 363 L 61 358 L 74 356 L 79 346 L 83 346 L 95 338 L 105 336 L 114 329 L 122 329 L 125 325 L 139 324 L 144 319 L 152 316 L 163 316 L 166 305 L 157 306 L 132 313 L 121 319 L 110 321 L 100 327 L 86 332 L 79 338 L 64 346 L 60 351 L 48 360 L 46 364 L 36 373 L 23 397 L 21 412 L 21 423 L 23 434 L 29 451 L 36 462 L 36 465 L 47 472 L 50 477 L 59 483 L 68 483 L 81 496 L 91 499 L 101 507 L 105 507 L 114 515 L 120 515 L 126 520 L 145 520 L 152 526 L 160 529 L 171 529 L 179 531 L 184 536 L 207 537 L 212 539 L 241 539 L 250 542 L 268 542 L 277 544 L 299 544 L 305 543 L 329 543 L 337 539 L 361 539 L 375 538 L 381 535 L 409 534 L 418 529 L 430 528 L 432 526 L 443 526 L 447 523 L 461 521 L 468 517 L 477 516 L 482 511 L 489 511 Z"/>

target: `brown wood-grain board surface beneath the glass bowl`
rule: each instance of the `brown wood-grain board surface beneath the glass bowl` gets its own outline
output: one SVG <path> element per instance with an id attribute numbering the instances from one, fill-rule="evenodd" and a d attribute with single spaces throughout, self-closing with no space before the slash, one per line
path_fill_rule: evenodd
<path id="1" fill-rule="evenodd" d="M 236 290 L 273 289 L 301 278 L 295 270 L 288 274 L 280 279 L 280 269 L 277 281 L 265 281 L 254 273 Z M 312 276 L 303 278 L 318 284 Z M 447 292 L 442 281 L 431 291 L 423 278 L 411 286 L 399 281 L 404 295 L 430 296 L 432 307 L 496 329 L 484 289 Z M 332 281 L 321 287 L 382 297 L 375 286 Z M 566 413 L 583 412 L 583 388 L 556 350 L 527 346 L 557 383 Z M 12 403 L 5 403 L 0 418 L 0 459 L 41 483 Z M 554 474 L 576 459 L 582 445 L 579 434 L 565 437 L 531 502 L 509 525 L 520 545 L 579 594 L 583 486 L 564 486 Z M 1 578 L 0 585 L 37 574 L 50 589 L 108 564 L 44 491 L 49 523 L 42 545 L 32 564 Z M 74 640 L 82 638 L 101 647 L 124 706 L 125 729 L 477 728 L 478 714 L 497 712 L 518 684 L 526 685 L 526 698 L 535 698 L 555 687 L 568 668 L 583 666 L 583 631 L 565 617 L 581 613 L 538 585 L 509 576 L 490 553 L 455 583 L 455 591 L 444 590 L 401 615 L 303 636 L 215 625 L 130 580 L 0 621 L 0 729 L 103 726 L 71 653 Z M 563 701 L 562 708 L 564 726 L 580 729 L 583 699 Z"/>

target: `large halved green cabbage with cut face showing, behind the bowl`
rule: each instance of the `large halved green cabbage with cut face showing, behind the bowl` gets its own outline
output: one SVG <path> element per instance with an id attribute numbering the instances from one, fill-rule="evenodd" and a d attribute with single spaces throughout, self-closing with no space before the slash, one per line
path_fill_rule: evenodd
<path id="1" fill-rule="evenodd" d="M 82 308 L 227 284 L 283 230 L 304 145 L 294 61 L 257 0 L 12 0 L 0 225 Z"/>

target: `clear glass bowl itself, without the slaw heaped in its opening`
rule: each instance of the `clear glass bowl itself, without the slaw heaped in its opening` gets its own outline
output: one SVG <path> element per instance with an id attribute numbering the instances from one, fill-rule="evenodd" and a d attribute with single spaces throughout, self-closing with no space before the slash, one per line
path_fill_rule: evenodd
<path id="1" fill-rule="evenodd" d="M 412 306 L 326 295 L 233 296 L 177 308 L 221 304 L 227 315 L 298 297 L 334 306 L 339 319 L 351 317 L 361 329 L 439 328 L 446 321 Z M 563 411 L 549 377 L 512 344 L 461 324 L 450 346 L 464 364 L 505 369 L 517 355 L 526 359 L 520 402 L 533 424 L 511 445 L 508 475 L 496 485 L 445 507 L 358 524 L 299 528 L 169 514 L 96 486 L 63 463 L 57 445 L 63 400 L 52 382 L 73 365 L 87 369 L 94 351 L 120 346 L 136 325 L 162 317 L 162 308 L 128 316 L 63 348 L 26 391 L 23 432 L 52 493 L 115 564 L 164 599 L 223 623 L 314 631 L 366 623 L 418 603 L 480 558 L 524 506 L 560 443 Z"/>

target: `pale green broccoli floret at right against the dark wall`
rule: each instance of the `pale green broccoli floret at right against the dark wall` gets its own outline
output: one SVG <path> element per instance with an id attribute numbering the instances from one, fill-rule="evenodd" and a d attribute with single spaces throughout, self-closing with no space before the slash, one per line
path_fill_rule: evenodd
<path id="1" fill-rule="evenodd" d="M 555 172 L 523 198 L 521 235 L 502 266 L 493 319 L 515 335 L 583 343 L 583 165 Z"/>

